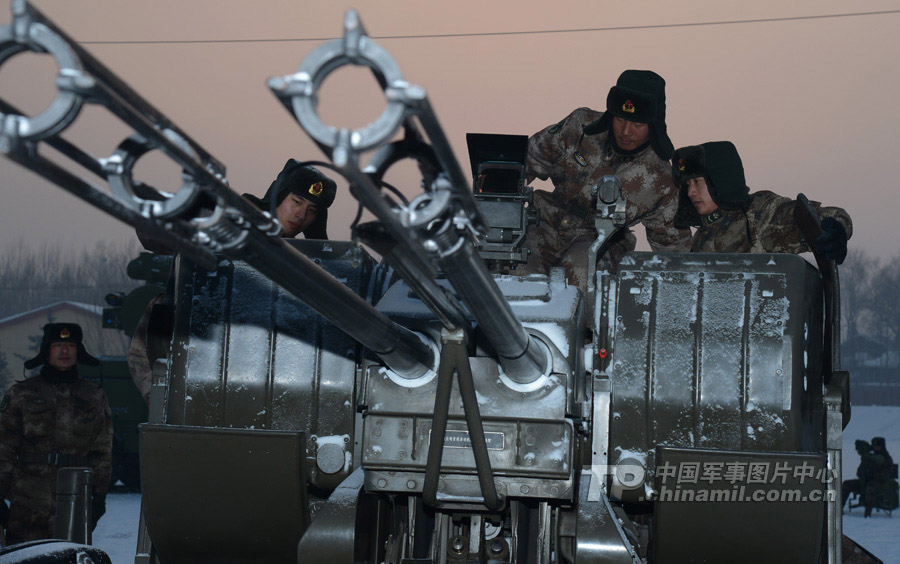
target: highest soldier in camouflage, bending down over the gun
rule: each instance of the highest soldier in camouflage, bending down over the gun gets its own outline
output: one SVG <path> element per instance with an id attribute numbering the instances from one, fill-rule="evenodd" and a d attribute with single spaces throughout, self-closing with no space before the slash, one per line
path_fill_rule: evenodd
<path id="1" fill-rule="evenodd" d="M 668 159 L 665 80 L 651 71 L 626 70 L 606 98 L 606 112 L 578 108 L 528 140 L 526 180 L 550 179 L 553 192 L 535 191 L 541 221 L 529 232 L 526 270 L 562 266 L 582 291 L 588 249 L 597 238 L 591 187 L 605 175 L 622 182 L 626 228 L 609 243 L 598 264 L 615 269 L 635 248 L 630 227 L 642 223 L 655 251 L 687 251 L 689 229 L 674 227 L 678 192 Z"/>

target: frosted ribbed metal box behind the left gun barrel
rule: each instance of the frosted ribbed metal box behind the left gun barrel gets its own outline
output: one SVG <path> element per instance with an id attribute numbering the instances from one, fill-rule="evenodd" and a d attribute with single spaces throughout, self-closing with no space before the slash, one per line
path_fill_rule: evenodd
<path id="1" fill-rule="evenodd" d="M 361 248 L 293 242 L 368 301 L 385 271 Z M 158 422 L 306 433 L 310 483 L 331 489 L 354 455 L 356 341 L 240 261 L 216 271 L 182 262 Z"/>

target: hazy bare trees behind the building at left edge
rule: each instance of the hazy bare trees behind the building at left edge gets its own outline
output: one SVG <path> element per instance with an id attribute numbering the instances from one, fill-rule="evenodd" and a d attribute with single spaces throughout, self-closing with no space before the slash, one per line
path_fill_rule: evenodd
<path id="1" fill-rule="evenodd" d="M 106 294 L 139 285 L 126 267 L 140 250 L 133 239 L 82 250 L 14 241 L 0 251 L 0 319 L 62 300 L 103 306 Z"/>

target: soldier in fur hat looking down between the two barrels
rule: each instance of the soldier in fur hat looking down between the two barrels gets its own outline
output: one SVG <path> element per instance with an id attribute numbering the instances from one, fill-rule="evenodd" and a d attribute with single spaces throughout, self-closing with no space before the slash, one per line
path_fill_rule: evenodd
<path id="1" fill-rule="evenodd" d="M 307 239 L 327 239 L 328 207 L 334 202 L 337 184 L 315 168 L 288 159 L 262 199 L 244 197 L 264 211 L 272 211 L 283 229 L 293 238 L 303 233 Z"/>

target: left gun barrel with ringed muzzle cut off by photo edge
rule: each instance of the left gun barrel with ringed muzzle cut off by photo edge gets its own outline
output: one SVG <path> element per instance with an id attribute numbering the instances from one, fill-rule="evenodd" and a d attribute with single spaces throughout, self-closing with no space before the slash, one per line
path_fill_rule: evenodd
<path id="1" fill-rule="evenodd" d="M 378 354 L 394 372 L 417 378 L 434 366 L 431 346 L 354 294 L 280 237 L 272 218 L 228 186 L 225 167 L 160 111 L 27 2 L 13 3 L 14 21 L 0 27 L 0 65 L 25 50 L 49 53 L 60 67 L 59 96 L 29 118 L 0 100 L 0 151 L 165 246 L 206 268 L 215 252 L 245 260 L 313 310 Z M 96 159 L 59 135 L 85 103 L 105 106 L 134 129 L 106 159 Z M 112 194 L 41 157 L 46 143 L 105 179 Z M 162 192 L 132 177 L 135 162 L 160 150 L 183 168 L 185 185 Z M 155 194 L 153 193 L 155 192 Z"/>

